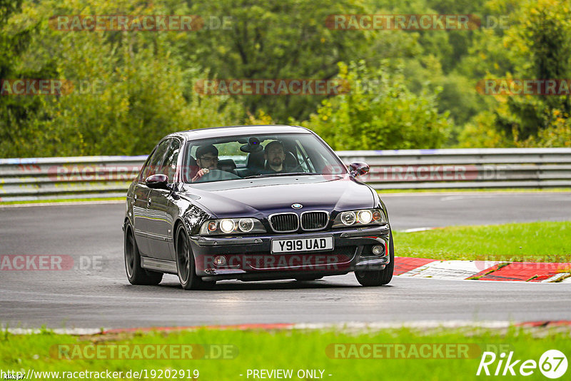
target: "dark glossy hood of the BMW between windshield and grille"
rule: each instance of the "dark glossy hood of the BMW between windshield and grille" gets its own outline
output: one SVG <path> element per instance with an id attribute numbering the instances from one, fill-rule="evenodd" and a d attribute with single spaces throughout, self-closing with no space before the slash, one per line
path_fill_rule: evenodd
<path id="1" fill-rule="evenodd" d="M 364 183 L 349 176 L 285 176 L 186 186 L 182 195 L 202 205 L 213 217 L 266 217 L 292 211 L 373 208 L 376 200 Z"/>

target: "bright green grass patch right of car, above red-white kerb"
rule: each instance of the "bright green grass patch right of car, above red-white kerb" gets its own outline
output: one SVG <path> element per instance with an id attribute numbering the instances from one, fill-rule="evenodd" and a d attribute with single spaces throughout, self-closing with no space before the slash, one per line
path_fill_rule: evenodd
<path id="1" fill-rule="evenodd" d="M 571 222 L 454 226 L 395 232 L 395 255 L 443 260 L 571 262 Z"/>

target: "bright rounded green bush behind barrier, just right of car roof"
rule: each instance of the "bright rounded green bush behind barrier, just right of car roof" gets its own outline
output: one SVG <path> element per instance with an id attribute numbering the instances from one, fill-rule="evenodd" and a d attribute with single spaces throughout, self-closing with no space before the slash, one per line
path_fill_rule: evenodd
<path id="1" fill-rule="evenodd" d="M 372 72 L 363 61 L 340 64 L 339 78 L 348 81 L 348 93 L 323 101 L 303 123 L 333 149 L 433 148 L 445 142 L 450 123 L 438 113 L 436 93 L 416 95 L 402 73 Z"/>

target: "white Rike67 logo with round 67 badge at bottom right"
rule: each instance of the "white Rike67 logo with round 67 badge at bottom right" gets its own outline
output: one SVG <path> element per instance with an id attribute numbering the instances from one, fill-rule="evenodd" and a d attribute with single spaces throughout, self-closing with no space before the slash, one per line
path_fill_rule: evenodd
<path id="1" fill-rule="evenodd" d="M 495 352 L 483 352 L 476 375 L 530 376 L 539 368 L 545 377 L 559 378 L 567 372 L 567 357 L 559 350 L 545 351 L 539 362 L 515 359 L 513 353 L 510 352 L 506 358 L 505 352 L 501 352 L 499 356 Z"/>

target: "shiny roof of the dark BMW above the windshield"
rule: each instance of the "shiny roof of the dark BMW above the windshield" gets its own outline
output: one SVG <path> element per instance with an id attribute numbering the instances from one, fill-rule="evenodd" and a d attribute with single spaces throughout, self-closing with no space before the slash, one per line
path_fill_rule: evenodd
<path id="1" fill-rule="evenodd" d="M 312 133 L 308 128 L 287 125 L 225 126 L 197 128 L 196 130 L 171 133 L 169 136 L 181 136 L 186 140 L 218 138 L 222 136 L 243 136 L 260 133 Z"/>

